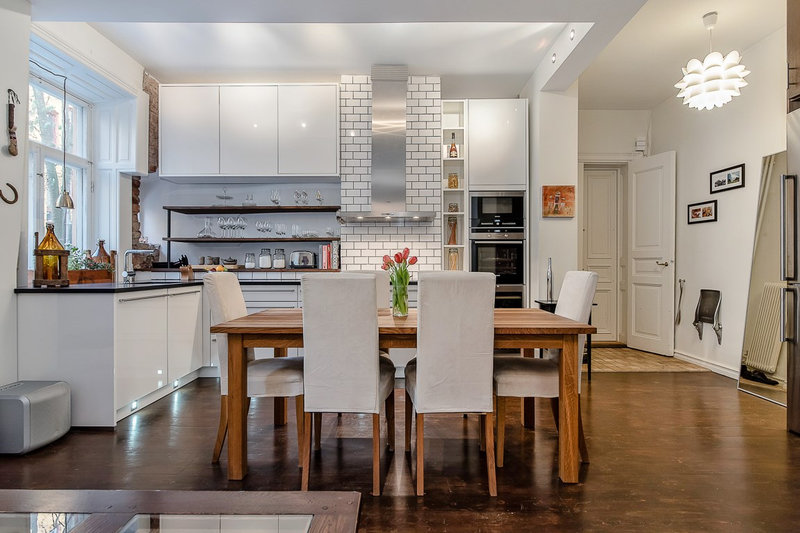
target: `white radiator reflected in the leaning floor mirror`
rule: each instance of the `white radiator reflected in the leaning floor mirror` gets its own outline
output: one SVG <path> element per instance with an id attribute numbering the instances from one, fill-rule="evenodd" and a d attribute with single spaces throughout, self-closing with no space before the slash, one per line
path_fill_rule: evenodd
<path id="1" fill-rule="evenodd" d="M 747 347 L 745 364 L 767 374 L 775 372 L 781 353 L 781 288 L 785 286 L 775 282 L 764 284 L 753 335 Z"/>

